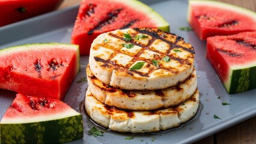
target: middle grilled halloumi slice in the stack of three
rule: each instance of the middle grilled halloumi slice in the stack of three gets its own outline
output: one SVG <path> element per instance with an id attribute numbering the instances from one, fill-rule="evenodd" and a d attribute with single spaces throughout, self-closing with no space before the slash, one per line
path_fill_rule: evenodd
<path id="1" fill-rule="evenodd" d="M 90 71 L 90 66 L 87 67 L 86 72 L 90 92 L 101 103 L 120 109 L 155 110 L 176 106 L 189 99 L 197 88 L 195 69 L 183 83 L 170 88 L 151 91 L 128 91 L 114 88 L 97 79 Z"/>

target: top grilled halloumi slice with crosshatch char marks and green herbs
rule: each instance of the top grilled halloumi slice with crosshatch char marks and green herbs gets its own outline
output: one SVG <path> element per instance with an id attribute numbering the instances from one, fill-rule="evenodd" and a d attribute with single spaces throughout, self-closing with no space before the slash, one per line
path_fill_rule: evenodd
<path id="1" fill-rule="evenodd" d="M 107 85 L 154 90 L 186 80 L 194 56 L 192 45 L 175 34 L 130 28 L 99 35 L 92 43 L 89 64 L 95 77 Z"/>

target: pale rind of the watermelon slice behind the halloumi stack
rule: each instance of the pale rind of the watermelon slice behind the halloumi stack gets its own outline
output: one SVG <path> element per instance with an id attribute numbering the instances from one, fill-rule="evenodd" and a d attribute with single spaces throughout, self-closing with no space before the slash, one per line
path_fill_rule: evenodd
<path id="1" fill-rule="evenodd" d="M 120 2 L 119 0 L 111 0 L 115 2 Z M 148 5 L 144 4 L 143 2 L 137 1 L 137 0 L 129 0 L 129 1 L 123 1 L 123 4 L 130 5 L 131 8 L 134 8 L 141 13 L 144 13 L 146 16 L 148 16 L 150 19 L 154 20 L 157 24 L 157 28 L 161 29 L 162 31 L 169 32 L 170 26 L 169 23 L 164 20 L 164 18 L 158 14 L 155 10 L 153 10 Z"/>

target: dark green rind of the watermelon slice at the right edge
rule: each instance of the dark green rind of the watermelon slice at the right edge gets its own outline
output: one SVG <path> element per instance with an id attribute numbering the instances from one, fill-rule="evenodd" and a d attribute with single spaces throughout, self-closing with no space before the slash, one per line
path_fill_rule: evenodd
<path id="1" fill-rule="evenodd" d="M 236 94 L 256 88 L 256 66 L 230 71 L 230 78 L 224 82 L 228 94 Z"/>

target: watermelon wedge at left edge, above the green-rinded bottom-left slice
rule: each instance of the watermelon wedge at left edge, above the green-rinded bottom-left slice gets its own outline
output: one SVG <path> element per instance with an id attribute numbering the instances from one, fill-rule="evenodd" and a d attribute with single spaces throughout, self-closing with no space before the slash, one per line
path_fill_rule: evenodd
<path id="1" fill-rule="evenodd" d="M 78 46 L 27 44 L 0 50 L 0 88 L 62 99 L 80 68 Z"/>

